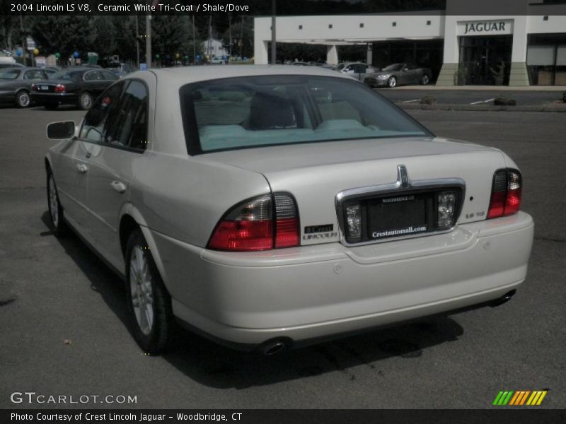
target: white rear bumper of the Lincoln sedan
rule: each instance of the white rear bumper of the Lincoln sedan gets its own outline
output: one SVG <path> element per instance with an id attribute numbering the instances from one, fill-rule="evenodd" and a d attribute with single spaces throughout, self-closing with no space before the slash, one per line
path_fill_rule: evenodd
<path id="1" fill-rule="evenodd" d="M 151 249 L 178 319 L 213 338 L 258 346 L 501 298 L 525 279 L 533 228 L 531 216 L 518 213 L 410 240 L 258 253 L 214 252 L 151 232 Z"/>

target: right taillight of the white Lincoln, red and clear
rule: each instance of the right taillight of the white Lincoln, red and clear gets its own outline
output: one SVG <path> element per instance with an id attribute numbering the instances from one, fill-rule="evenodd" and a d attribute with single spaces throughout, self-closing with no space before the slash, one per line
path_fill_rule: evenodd
<path id="1" fill-rule="evenodd" d="M 517 213 L 521 207 L 521 172 L 499 170 L 493 175 L 490 209 L 487 218 Z"/>

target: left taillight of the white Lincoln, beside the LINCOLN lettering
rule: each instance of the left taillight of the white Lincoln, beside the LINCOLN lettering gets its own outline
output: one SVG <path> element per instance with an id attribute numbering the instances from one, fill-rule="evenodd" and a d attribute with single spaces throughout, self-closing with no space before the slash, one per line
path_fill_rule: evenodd
<path id="1" fill-rule="evenodd" d="M 296 204 L 285 193 L 266 194 L 236 205 L 216 225 L 208 243 L 209 249 L 236 252 L 298 245 Z"/>

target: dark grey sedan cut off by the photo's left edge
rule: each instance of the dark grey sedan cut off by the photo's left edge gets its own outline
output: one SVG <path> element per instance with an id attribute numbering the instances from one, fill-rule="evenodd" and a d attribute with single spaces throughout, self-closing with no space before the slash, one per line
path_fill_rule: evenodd
<path id="1" fill-rule="evenodd" d="M 18 107 L 28 107 L 32 84 L 45 80 L 47 73 L 39 68 L 11 66 L 0 69 L 0 102 L 16 102 Z"/>

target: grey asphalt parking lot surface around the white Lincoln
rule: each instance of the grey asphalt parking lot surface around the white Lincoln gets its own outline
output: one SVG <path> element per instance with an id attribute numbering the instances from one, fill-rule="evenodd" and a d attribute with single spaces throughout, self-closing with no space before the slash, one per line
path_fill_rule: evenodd
<path id="1" fill-rule="evenodd" d="M 499 390 L 519 389 L 549 389 L 538 408 L 566 408 L 566 119 L 411 113 L 439 136 L 502 148 L 521 167 L 536 230 L 511 302 L 272 358 L 179 331 L 171 353 L 151 357 L 129 334 L 120 280 L 47 224 L 45 124 L 83 112 L 0 109 L 0 408 L 490 408 Z M 14 391 L 137 403 L 13 404 Z"/>

